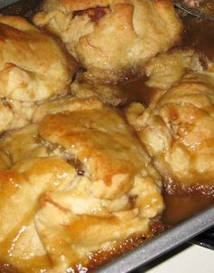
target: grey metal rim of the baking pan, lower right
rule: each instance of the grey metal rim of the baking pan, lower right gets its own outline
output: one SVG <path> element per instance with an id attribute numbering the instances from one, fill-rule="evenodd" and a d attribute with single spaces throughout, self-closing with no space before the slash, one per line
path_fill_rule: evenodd
<path id="1" fill-rule="evenodd" d="M 20 2 L 20 5 L 17 4 Z M 0 0 L 0 10 L 5 14 L 13 15 L 14 7 L 19 7 L 20 14 L 22 14 L 22 4 L 30 3 L 31 5 L 38 4 L 39 1 L 28 0 Z M 6 12 L 5 12 L 5 7 Z M 115 258 L 102 268 L 95 270 L 97 273 L 126 273 L 126 272 L 143 272 L 143 267 L 151 263 L 160 256 L 170 252 L 172 249 L 178 248 L 183 243 L 190 241 L 202 233 L 203 231 L 214 226 L 214 205 L 209 209 L 202 210 L 195 216 L 185 219 L 175 227 L 168 229 L 148 240 L 137 249 L 133 249 L 120 258 Z"/>

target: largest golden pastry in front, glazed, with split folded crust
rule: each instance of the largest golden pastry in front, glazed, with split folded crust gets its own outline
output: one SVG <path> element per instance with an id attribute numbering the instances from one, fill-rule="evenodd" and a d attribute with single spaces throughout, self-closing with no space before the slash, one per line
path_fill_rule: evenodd
<path id="1" fill-rule="evenodd" d="M 28 154 L 15 148 L 24 133 L 34 134 Z M 2 151 L 7 143 L 17 162 L 0 171 L 2 262 L 22 272 L 81 272 L 92 253 L 151 236 L 164 208 L 160 176 L 116 110 L 79 99 L 5 135 Z"/>

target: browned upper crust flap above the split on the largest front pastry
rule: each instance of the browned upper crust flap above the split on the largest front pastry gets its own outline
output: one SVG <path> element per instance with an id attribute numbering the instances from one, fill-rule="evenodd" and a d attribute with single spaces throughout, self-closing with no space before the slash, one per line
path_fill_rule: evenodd
<path id="1" fill-rule="evenodd" d="M 74 153 L 87 166 L 94 185 L 102 185 L 97 194 L 107 194 L 109 198 L 122 195 L 150 159 L 119 113 L 103 106 L 97 108 L 96 104 L 95 109 L 91 105 L 91 109 L 83 110 L 85 101 L 79 102 L 79 109 L 44 117 L 40 134 L 45 141 Z"/>

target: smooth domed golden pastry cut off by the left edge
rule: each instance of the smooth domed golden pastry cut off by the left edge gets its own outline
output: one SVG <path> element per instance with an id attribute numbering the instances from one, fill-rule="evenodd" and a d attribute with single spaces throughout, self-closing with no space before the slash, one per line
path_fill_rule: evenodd
<path id="1" fill-rule="evenodd" d="M 36 102 L 69 91 L 75 62 L 24 18 L 0 15 L 0 132 L 31 121 Z"/>

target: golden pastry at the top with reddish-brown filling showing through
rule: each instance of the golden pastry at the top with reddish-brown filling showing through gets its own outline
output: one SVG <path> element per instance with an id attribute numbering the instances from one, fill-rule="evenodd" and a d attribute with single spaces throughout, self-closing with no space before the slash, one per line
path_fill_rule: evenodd
<path id="1" fill-rule="evenodd" d="M 86 69 L 84 79 L 119 83 L 143 73 L 156 54 L 180 42 L 170 0 L 45 0 L 34 24 L 62 38 Z"/>

